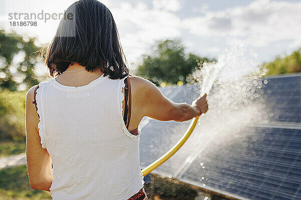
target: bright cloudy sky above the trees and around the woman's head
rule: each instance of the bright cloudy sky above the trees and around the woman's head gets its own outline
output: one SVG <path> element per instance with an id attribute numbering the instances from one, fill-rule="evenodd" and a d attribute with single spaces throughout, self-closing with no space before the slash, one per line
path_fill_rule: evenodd
<path id="1" fill-rule="evenodd" d="M 132 69 L 158 40 L 181 39 L 186 52 L 217 58 L 233 46 L 271 61 L 301 47 L 301 0 L 100 0 L 113 14 Z M 0 26 L 50 42 L 59 19 L 11 26 L 9 13 L 63 13 L 75 0 L 0 0 Z M 42 15 L 41 15 L 42 16 Z"/>

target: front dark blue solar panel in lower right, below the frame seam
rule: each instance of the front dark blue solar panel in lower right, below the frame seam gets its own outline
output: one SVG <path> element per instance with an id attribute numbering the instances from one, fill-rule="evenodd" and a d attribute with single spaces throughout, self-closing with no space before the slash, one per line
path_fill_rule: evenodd
<path id="1" fill-rule="evenodd" d="M 301 130 L 256 128 L 256 132 L 255 140 L 249 136 L 203 151 L 183 179 L 250 199 L 301 198 Z"/>

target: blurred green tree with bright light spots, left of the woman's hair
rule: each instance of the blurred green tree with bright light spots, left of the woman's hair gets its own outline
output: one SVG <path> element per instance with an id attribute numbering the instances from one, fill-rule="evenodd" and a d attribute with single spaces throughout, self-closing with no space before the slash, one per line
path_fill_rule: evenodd
<path id="1" fill-rule="evenodd" d="M 42 62 L 38 53 L 33 53 L 38 48 L 34 37 L 0 29 L 0 91 L 4 88 L 15 91 L 18 86 L 24 90 L 39 83 L 32 70 L 37 62 Z"/>

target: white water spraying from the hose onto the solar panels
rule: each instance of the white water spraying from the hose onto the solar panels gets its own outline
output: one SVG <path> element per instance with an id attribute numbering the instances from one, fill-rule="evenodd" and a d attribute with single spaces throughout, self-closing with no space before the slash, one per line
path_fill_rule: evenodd
<path id="1" fill-rule="evenodd" d="M 200 117 L 187 148 L 182 151 L 189 155 L 173 176 L 181 178 L 204 149 L 235 142 L 246 136 L 240 130 L 245 124 L 264 120 L 261 112 L 265 104 L 260 88 L 266 83 L 261 80 L 266 72 L 256 53 L 238 46 L 226 49 L 217 62 L 203 63 L 193 73 L 200 96 L 207 93 L 209 110 Z M 205 166 L 206 163 L 200 163 L 200 167 Z"/>

